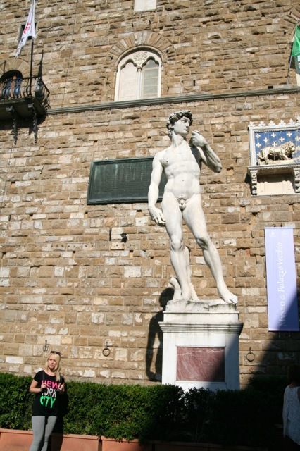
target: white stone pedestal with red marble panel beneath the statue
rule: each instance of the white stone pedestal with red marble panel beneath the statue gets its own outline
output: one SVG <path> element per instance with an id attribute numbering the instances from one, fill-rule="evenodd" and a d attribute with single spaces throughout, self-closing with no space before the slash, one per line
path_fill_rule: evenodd
<path id="1" fill-rule="evenodd" d="M 239 389 L 239 334 L 234 304 L 170 301 L 163 330 L 163 383 L 187 390 Z"/>

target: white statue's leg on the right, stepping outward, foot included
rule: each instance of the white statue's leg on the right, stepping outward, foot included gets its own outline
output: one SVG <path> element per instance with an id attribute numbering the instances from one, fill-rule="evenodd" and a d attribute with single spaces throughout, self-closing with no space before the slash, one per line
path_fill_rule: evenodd
<path id="1" fill-rule="evenodd" d="M 185 219 L 187 226 L 192 230 L 197 244 L 203 251 L 204 260 L 208 268 L 210 268 L 213 278 L 215 278 L 221 299 L 228 303 L 236 303 L 237 297 L 228 290 L 225 284 L 218 250 L 215 248 L 215 245 L 207 233 L 200 194 L 194 195 L 189 199 L 183 212 L 183 218 Z"/>

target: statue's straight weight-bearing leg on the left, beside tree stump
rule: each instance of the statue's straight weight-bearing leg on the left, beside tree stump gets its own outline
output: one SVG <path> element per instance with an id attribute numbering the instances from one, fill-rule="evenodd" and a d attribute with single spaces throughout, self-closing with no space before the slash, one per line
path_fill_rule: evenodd
<path id="1" fill-rule="evenodd" d="M 161 207 L 165 216 L 165 228 L 170 237 L 170 261 L 180 284 L 181 299 L 189 300 L 192 297 L 192 290 L 189 284 L 185 245 L 183 244 L 182 212 L 177 199 L 168 192 L 163 195 Z"/>

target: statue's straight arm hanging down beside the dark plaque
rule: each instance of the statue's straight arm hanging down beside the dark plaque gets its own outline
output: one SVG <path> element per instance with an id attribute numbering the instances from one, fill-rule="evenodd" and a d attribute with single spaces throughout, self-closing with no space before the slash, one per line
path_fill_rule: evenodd
<path id="1" fill-rule="evenodd" d="M 161 209 L 158 209 L 156 202 L 159 194 L 159 183 L 161 182 L 161 174 L 163 173 L 163 165 L 161 163 L 161 152 L 154 156 L 152 163 L 151 182 L 148 191 L 148 210 L 151 219 L 158 226 L 165 226 L 165 218 Z"/>

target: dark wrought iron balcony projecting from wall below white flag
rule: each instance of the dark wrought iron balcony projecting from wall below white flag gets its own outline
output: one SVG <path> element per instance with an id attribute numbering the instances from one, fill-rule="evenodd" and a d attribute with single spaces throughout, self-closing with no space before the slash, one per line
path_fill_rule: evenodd
<path id="1" fill-rule="evenodd" d="M 13 75 L 0 80 L 0 121 L 13 121 L 13 136 L 16 142 L 18 124 L 32 120 L 37 141 L 38 118 L 46 116 L 49 108 L 49 89 L 39 75 L 20 77 Z"/>

